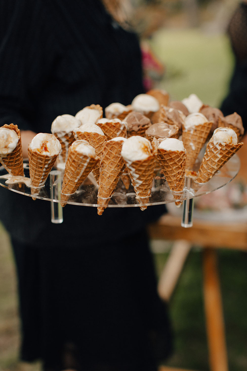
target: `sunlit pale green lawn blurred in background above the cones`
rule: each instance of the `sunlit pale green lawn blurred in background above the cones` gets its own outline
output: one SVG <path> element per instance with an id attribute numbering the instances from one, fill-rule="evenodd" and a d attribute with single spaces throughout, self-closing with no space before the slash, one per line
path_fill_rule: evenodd
<path id="1" fill-rule="evenodd" d="M 209 34 L 201 29 L 161 29 L 150 45 L 166 67 L 158 87 L 170 93 L 172 100 L 195 93 L 204 104 L 220 105 L 233 68 L 226 35 Z"/>

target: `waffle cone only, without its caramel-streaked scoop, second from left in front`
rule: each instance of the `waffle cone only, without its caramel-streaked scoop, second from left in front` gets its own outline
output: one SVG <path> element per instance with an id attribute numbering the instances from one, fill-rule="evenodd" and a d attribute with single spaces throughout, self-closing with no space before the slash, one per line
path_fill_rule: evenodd
<path id="1" fill-rule="evenodd" d="M 42 155 L 28 148 L 29 174 L 31 180 L 31 194 L 39 194 L 40 189 L 46 183 L 46 179 L 57 160 L 58 155 Z"/>

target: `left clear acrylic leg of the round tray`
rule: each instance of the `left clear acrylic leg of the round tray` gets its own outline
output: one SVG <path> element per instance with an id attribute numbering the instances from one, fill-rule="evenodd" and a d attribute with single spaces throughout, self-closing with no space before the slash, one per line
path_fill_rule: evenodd
<path id="1" fill-rule="evenodd" d="M 62 188 L 61 171 L 51 170 L 50 172 L 50 188 L 51 198 L 53 200 L 60 200 Z M 63 208 L 60 202 L 51 201 L 51 223 L 63 223 Z"/>

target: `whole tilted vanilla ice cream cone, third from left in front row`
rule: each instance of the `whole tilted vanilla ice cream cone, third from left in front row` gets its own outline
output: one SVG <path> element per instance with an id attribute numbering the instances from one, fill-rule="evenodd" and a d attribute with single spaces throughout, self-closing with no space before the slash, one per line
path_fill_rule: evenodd
<path id="1" fill-rule="evenodd" d="M 70 195 L 75 193 L 100 160 L 92 146 L 90 146 L 91 154 L 88 155 L 86 154 L 87 152 L 78 150 L 81 145 L 86 145 L 86 148 L 90 146 L 84 140 L 77 140 L 69 148 L 61 190 L 61 206 L 63 207 L 66 205 Z"/>

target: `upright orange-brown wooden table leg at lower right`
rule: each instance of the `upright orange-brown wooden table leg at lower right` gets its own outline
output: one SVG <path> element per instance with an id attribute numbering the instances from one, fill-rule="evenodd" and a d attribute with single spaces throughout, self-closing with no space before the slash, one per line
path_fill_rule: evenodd
<path id="1" fill-rule="evenodd" d="M 220 280 L 215 249 L 203 250 L 204 307 L 211 371 L 228 371 Z"/>

